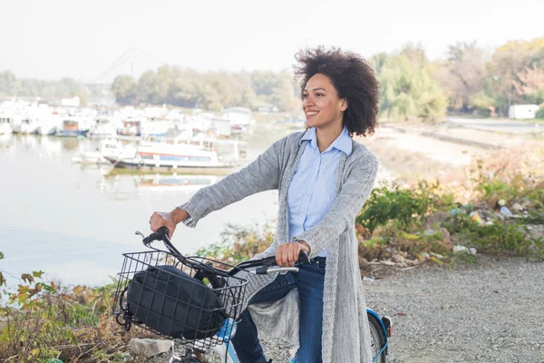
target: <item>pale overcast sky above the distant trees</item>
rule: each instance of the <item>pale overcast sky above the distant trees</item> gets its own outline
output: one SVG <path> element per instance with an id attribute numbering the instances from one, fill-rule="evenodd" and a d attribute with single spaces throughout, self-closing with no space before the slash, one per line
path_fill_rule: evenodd
<path id="1" fill-rule="evenodd" d="M 161 63 L 199 71 L 291 69 L 304 46 L 364 56 L 423 44 L 492 49 L 544 36 L 544 0 L 0 0 L 0 70 L 93 81 L 131 47 L 136 76 Z M 130 74 L 131 62 L 112 70 Z"/>

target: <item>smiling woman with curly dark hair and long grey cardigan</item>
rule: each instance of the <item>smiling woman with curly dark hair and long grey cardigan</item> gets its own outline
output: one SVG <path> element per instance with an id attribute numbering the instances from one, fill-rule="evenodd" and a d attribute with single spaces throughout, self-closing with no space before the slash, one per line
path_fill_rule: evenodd
<path id="1" fill-rule="evenodd" d="M 275 254 L 279 266 L 294 266 L 299 251 L 306 250 L 311 261 L 297 275 L 252 278 L 248 304 L 287 304 L 288 292 L 296 288 L 300 308 L 280 309 L 287 312 L 273 321 L 278 329 L 299 322 L 298 362 L 368 363 L 372 356 L 355 216 L 373 189 L 378 162 L 351 136 L 374 132 L 378 83 L 357 54 L 319 47 L 296 54 L 296 59 L 306 132 L 275 142 L 255 162 L 201 189 L 173 211 L 153 213 L 151 231 L 166 226 L 171 236 L 180 221 L 194 227 L 211 211 L 277 189 L 276 237 L 256 258 Z M 232 339 L 242 363 L 266 363 L 257 338 L 264 315 L 248 309 L 242 313 Z M 269 324 L 270 319 L 267 331 L 276 329 Z"/>

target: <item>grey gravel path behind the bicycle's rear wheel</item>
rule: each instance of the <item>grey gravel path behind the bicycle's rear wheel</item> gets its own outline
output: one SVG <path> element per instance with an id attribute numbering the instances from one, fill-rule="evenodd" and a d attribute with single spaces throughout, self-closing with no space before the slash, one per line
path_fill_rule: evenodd
<path id="1" fill-rule="evenodd" d="M 393 319 L 387 362 L 544 362 L 544 263 L 480 260 L 364 282 L 367 305 Z M 284 342 L 263 346 L 288 361 Z"/>

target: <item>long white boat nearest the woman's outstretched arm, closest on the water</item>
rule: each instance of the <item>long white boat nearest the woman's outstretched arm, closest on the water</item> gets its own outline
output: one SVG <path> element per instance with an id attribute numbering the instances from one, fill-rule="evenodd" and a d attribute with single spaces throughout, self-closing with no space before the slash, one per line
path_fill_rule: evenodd
<path id="1" fill-rule="evenodd" d="M 142 142 L 133 158 L 107 157 L 117 168 L 149 171 L 227 173 L 238 166 L 238 160 L 221 160 L 212 141 Z"/>

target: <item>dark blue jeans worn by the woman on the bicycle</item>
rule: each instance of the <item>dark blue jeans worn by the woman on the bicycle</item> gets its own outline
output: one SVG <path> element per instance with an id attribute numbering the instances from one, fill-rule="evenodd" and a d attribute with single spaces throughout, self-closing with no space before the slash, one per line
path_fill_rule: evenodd
<path id="1" fill-rule="evenodd" d="M 325 262 L 321 259 L 298 265 L 298 274 L 287 272 L 277 276 L 266 288 L 249 300 L 250 304 L 276 301 L 291 289 L 298 289 L 300 299 L 300 348 L 296 355 L 298 363 L 321 363 L 321 335 L 323 330 L 323 284 Z M 240 322 L 233 346 L 240 363 L 267 363 L 263 348 L 259 344 L 257 328 L 248 309 L 240 315 Z"/>

